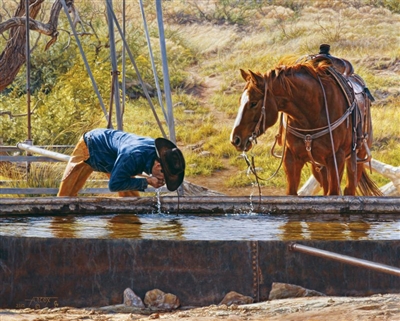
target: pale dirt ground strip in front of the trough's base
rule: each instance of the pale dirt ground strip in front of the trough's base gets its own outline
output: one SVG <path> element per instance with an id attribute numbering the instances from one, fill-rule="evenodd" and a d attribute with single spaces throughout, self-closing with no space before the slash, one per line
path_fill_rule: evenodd
<path id="1" fill-rule="evenodd" d="M 248 305 L 208 306 L 172 312 L 138 311 L 123 305 L 76 309 L 0 310 L 0 321 L 47 320 L 163 321 L 395 321 L 400 320 L 400 294 L 370 297 L 307 297 Z"/>

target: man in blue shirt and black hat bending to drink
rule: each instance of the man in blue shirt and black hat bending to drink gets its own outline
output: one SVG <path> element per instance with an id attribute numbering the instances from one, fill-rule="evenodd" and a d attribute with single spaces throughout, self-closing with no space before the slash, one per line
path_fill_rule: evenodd
<path id="1" fill-rule="evenodd" d="M 165 138 L 137 136 L 119 130 L 94 129 L 75 146 L 57 196 L 77 196 L 93 171 L 106 173 L 108 187 L 119 196 L 139 196 L 148 185 L 175 191 L 185 175 L 185 159 Z M 147 174 L 146 177 L 136 177 Z"/>

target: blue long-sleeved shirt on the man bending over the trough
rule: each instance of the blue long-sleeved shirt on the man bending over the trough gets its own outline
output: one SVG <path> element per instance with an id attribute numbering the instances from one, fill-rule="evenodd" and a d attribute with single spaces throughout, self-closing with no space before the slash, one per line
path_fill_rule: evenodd
<path id="1" fill-rule="evenodd" d="M 112 129 L 94 129 L 83 135 L 90 157 L 85 162 L 95 171 L 109 173 L 112 192 L 144 191 L 156 158 L 154 139 Z"/>

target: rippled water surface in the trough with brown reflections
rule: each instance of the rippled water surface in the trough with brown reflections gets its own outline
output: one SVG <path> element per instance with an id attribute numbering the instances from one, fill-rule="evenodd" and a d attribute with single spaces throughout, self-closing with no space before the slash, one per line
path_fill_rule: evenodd
<path id="1" fill-rule="evenodd" d="M 324 221 L 318 215 L 118 214 L 0 217 L 0 235 L 159 240 L 397 240 L 400 217 Z"/>

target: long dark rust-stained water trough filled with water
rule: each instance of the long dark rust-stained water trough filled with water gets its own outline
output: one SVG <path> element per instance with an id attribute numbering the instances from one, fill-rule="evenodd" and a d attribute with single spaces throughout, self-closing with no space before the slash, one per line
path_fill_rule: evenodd
<path id="1" fill-rule="evenodd" d="M 129 287 L 142 298 L 158 288 L 177 295 L 182 306 L 202 306 L 218 304 L 230 291 L 255 301 L 267 300 L 273 282 L 327 295 L 398 293 L 399 213 L 397 198 L 262 197 L 250 201 L 248 197 L 207 196 L 162 197 L 160 202 L 153 197 L 4 198 L 0 218 L 8 230 L 2 227 L 0 232 L 0 303 L 3 308 L 106 306 L 122 303 L 123 291 Z M 101 231 L 108 231 L 116 218 L 132 224 L 129 220 L 137 217 L 140 222 L 129 226 L 144 231 L 150 224 L 148 215 L 154 220 L 157 215 L 160 220 L 173 216 L 169 221 L 179 226 L 179 232 L 173 230 L 173 237 L 166 238 L 162 233 L 150 237 L 147 231 L 138 237 L 85 236 L 79 232 L 81 221 L 71 232 L 71 218 L 82 217 L 105 220 Z M 249 228 L 248 234 L 236 236 L 229 230 L 229 219 L 237 219 L 235 215 L 256 216 L 259 227 L 288 230 L 269 238 L 258 235 L 262 228 Z M 187 236 L 187 216 L 208 222 L 203 233 L 207 238 Z M 28 233 L 35 224 L 43 227 L 50 220 L 46 226 L 51 226 L 57 219 L 68 233 Z M 371 233 L 375 223 L 381 234 Z M 290 236 L 294 225 L 302 231 Z M 343 230 L 337 238 L 329 233 L 321 236 L 316 226 Z"/>

